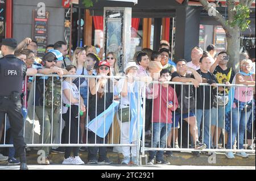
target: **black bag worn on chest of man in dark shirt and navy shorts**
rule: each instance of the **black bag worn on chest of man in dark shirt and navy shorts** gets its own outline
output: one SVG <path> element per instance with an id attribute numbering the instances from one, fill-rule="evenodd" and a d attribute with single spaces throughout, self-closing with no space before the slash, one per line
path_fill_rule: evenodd
<path id="1" fill-rule="evenodd" d="M 189 90 L 189 87 L 190 87 L 190 90 Z M 181 92 L 182 92 L 182 95 L 181 95 Z M 177 99 L 179 102 L 179 107 L 177 109 L 177 112 L 181 113 L 181 110 L 182 110 L 182 113 L 189 113 L 191 110 L 195 109 L 195 95 L 193 91 L 193 85 L 183 85 L 182 91 L 180 87 L 180 95 Z"/>

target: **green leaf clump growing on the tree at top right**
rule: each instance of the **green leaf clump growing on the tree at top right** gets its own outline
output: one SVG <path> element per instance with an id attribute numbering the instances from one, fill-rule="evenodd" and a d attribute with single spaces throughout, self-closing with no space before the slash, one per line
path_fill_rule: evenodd
<path id="1" fill-rule="evenodd" d="M 234 7 L 234 19 L 228 23 L 231 27 L 238 26 L 241 31 L 245 31 L 249 27 L 250 20 L 250 9 L 247 6 L 241 4 Z"/>

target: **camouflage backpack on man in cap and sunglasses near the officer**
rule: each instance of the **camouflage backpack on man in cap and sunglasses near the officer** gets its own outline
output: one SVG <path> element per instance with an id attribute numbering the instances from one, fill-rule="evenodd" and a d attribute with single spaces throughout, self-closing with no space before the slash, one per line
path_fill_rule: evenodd
<path id="1" fill-rule="evenodd" d="M 52 81 L 52 77 L 49 77 L 45 81 L 45 89 L 43 91 L 42 91 L 42 89 L 40 89 L 40 87 L 43 87 L 43 81 L 40 82 L 39 84 L 40 84 L 40 85 L 38 85 L 39 91 L 42 95 L 42 97 L 40 99 L 43 100 L 43 96 L 45 96 L 44 97 L 44 106 L 59 107 L 60 103 L 61 103 L 61 94 L 62 94 L 61 79 L 59 77 L 53 77 L 53 81 Z"/>

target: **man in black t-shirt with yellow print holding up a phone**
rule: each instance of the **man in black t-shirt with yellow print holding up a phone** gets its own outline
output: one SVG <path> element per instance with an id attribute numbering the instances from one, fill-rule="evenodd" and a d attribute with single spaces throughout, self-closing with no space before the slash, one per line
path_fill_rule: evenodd
<path id="1" fill-rule="evenodd" d="M 233 81 L 235 72 L 232 68 L 228 68 L 227 66 L 229 61 L 228 58 L 229 57 L 226 52 L 220 52 L 218 53 L 217 60 L 210 67 L 210 73 L 213 73 L 214 75 L 216 75 L 217 83 L 229 84 L 229 83 L 232 83 Z M 224 94 L 224 91 L 220 91 L 218 89 L 218 98 L 224 98 L 224 99 L 219 99 L 218 105 L 216 103 L 213 105 L 213 108 L 212 108 L 213 115 L 212 115 L 211 127 L 214 127 L 213 148 L 217 148 L 217 143 L 220 138 L 221 131 L 225 126 L 224 125 L 224 114 L 225 114 L 224 104 L 226 105 L 228 103 L 228 99 L 225 99 L 225 98 L 228 98 L 228 93 L 229 93 L 229 87 L 226 87 L 225 94 Z M 225 100 L 225 103 L 223 102 L 223 100 Z M 227 136 L 228 133 L 226 133 L 225 135 Z M 227 141 L 228 140 L 226 139 L 225 143 Z"/>

